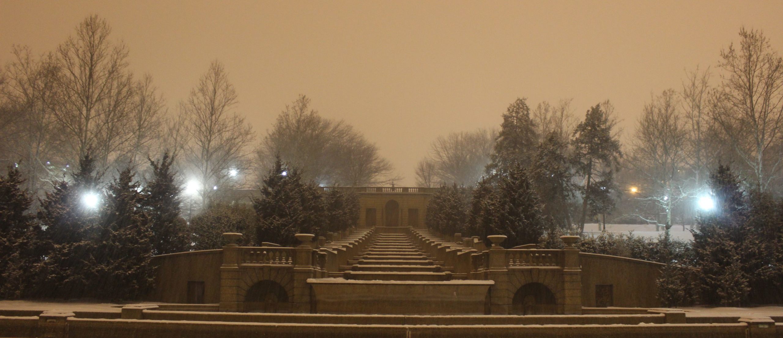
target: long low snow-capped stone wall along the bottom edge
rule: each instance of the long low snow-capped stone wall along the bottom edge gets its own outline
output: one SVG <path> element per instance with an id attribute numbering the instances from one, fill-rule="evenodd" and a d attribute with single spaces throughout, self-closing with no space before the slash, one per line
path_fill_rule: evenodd
<path id="1" fill-rule="evenodd" d="M 233 337 L 716 337 L 780 336 L 781 325 L 765 326 L 739 322 L 731 324 L 642 324 L 642 325 L 341 325 L 246 322 L 152 321 L 134 319 L 67 318 L 45 322 L 38 318 L 2 318 L 6 336 L 57 338 L 196 338 Z"/>

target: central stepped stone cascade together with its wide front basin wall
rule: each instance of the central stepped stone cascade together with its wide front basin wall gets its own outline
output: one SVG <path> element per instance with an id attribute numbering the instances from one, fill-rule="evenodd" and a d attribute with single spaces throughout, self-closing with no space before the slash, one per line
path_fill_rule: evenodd
<path id="1" fill-rule="evenodd" d="M 483 315 L 490 280 L 454 279 L 453 267 L 431 257 L 411 228 L 375 227 L 363 249 L 330 278 L 308 279 L 313 313 Z"/>

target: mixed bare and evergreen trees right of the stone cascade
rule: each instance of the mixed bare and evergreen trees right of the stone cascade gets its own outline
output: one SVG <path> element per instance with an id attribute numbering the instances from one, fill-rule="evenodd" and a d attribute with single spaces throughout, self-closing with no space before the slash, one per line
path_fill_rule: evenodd
<path id="1" fill-rule="evenodd" d="M 662 235 L 583 235 L 580 249 L 666 264 L 659 279 L 666 305 L 783 301 L 783 59 L 762 32 L 739 35 L 738 46 L 720 52 L 719 83 L 697 69 L 681 91 L 652 95 L 625 148 L 608 101 L 577 122 L 568 101 L 531 112 L 517 99 L 491 153 L 460 134 L 438 138 L 417 167 L 420 182 L 442 186 L 428 227 L 447 236 L 505 235 L 505 247 L 556 248 L 559 236 L 583 234 L 586 221 L 605 230 L 606 216 L 619 214 Z M 444 143 L 472 149 L 439 156 Z M 473 153 L 485 160 L 471 160 Z M 457 174 L 482 165 L 478 179 Z M 701 199 L 709 203 L 699 210 Z M 692 242 L 670 238 L 676 222 L 695 225 Z"/>

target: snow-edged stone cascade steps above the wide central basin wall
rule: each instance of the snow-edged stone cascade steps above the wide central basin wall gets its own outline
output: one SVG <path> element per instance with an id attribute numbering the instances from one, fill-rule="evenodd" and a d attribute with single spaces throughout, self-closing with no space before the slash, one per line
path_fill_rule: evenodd
<path id="1" fill-rule="evenodd" d="M 365 250 L 340 267 L 348 280 L 431 281 L 452 279 L 451 268 L 428 257 L 406 234 L 377 234 Z"/>

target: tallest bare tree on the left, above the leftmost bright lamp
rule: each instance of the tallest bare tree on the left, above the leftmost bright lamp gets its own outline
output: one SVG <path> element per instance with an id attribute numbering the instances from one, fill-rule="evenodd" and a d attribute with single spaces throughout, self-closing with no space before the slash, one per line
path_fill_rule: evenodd
<path id="1" fill-rule="evenodd" d="M 110 41 L 110 33 L 106 20 L 89 16 L 57 47 L 59 95 L 53 112 L 65 136 L 65 164 L 89 150 L 105 170 L 126 146 L 134 82 L 126 71 L 128 49 Z"/>

